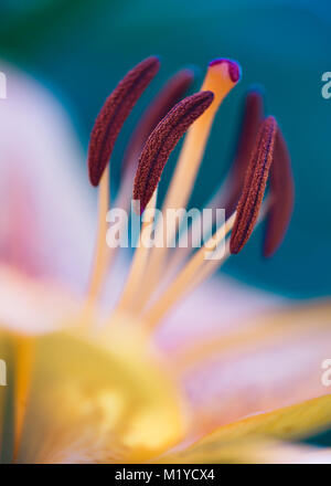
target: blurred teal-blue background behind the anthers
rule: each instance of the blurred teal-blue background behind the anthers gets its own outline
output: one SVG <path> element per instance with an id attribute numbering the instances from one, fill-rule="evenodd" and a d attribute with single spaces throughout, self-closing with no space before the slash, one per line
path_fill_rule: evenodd
<path id="1" fill-rule="evenodd" d="M 164 81 L 182 66 L 193 65 L 199 88 L 210 60 L 237 60 L 243 80 L 217 115 L 191 205 L 203 204 L 225 177 L 244 95 L 253 84 L 263 86 L 267 112 L 277 117 L 291 152 L 295 214 L 271 260 L 261 257 L 259 229 L 225 271 L 290 297 L 330 295 L 331 98 L 321 95 L 322 73 L 331 71 L 330 2 L 1 0 L 0 8 L 0 60 L 28 72 L 52 92 L 72 118 L 85 150 L 94 119 L 116 83 L 143 57 L 161 56 L 158 77 L 116 145 L 115 187 L 128 136 Z"/>

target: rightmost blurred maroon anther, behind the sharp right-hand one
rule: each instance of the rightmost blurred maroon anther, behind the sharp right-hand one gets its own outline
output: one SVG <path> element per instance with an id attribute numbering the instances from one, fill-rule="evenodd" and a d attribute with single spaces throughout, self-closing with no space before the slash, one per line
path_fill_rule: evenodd
<path id="1" fill-rule="evenodd" d="M 267 216 L 264 255 L 271 256 L 281 244 L 288 229 L 292 210 L 295 187 L 290 155 L 280 130 L 275 141 L 274 162 L 270 169 L 273 203 Z"/>

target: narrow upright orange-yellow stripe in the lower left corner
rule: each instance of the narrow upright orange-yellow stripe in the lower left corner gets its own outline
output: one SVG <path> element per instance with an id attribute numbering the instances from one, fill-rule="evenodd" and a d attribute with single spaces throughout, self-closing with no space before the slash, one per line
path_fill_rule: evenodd
<path id="1" fill-rule="evenodd" d="M 17 340 L 17 369 L 14 389 L 14 450 L 13 461 L 17 461 L 22 439 L 26 402 L 31 383 L 34 359 L 34 339 L 19 337 Z"/>

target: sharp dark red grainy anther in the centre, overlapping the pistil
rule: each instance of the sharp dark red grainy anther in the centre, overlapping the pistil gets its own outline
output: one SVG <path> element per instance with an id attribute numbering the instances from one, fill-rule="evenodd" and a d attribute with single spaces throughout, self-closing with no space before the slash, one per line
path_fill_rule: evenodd
<path id="1" fill-rule="evenodd" d="M 152 197 L 171 151 L 213 98 L 212 92 L 188 96 L 169 112 L 148 138 L 139 159 L 134 187 L 134 199 L 140 200 L 141 211 Z"/>

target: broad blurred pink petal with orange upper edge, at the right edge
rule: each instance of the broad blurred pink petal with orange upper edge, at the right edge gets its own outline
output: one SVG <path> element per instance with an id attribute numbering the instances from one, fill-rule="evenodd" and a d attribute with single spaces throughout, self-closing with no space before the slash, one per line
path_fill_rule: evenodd
<path id="1" fill-rule="evenodd" d="M 330 393 L 321 380 L 330 358 L 330 310 L 328 302 L 278 310 L 173 359 L 195 432 Z"/>

